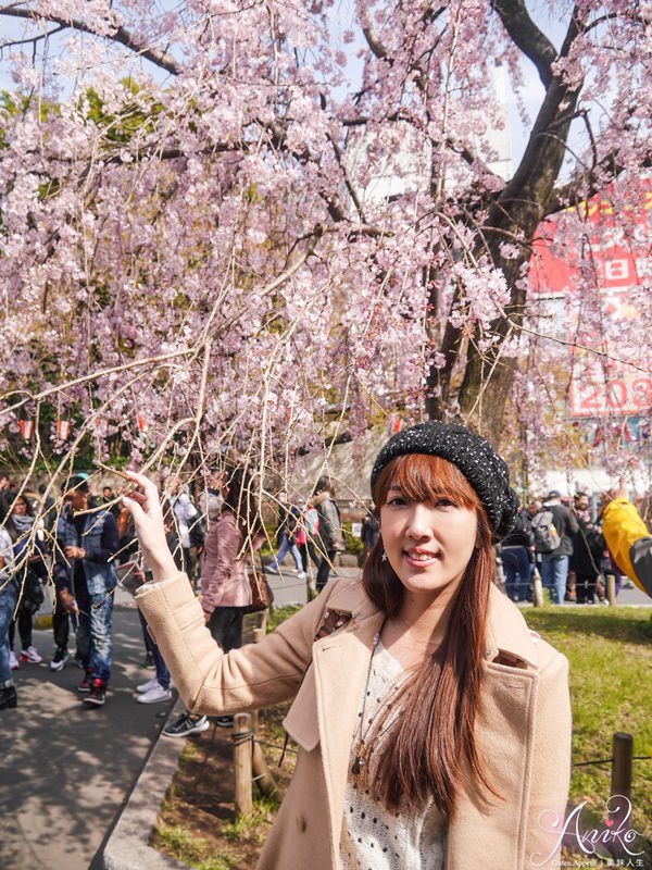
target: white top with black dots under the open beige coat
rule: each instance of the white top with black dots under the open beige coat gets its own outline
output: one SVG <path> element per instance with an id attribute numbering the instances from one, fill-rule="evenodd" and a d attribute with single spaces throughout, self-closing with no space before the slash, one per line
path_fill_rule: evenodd
<path id="1" fill-rule="evenodd" d="M 359 719 L 364 718 L 362 733 L 376 712 L 392 703 L 405 671 L 378 642 L 373 658 L 368 685 L 363 687 L 359 704 Z M 365 681 L 366 682 L 366 681 Z M 387 725 L 391 719 L 387 719 Z M 385 728 L 385 726 L 384 726 Z M 355 730 L 351 747 L 351 765 L 355 759 L 359 731 Z M 349 768 L 350 771 L 350 768 Z M 374 800 L 365 787 L 349 772 L 344 794 L 342 832 L 340 838 L 340 870 L 444 870 L 447 825 L 434 804 L 422 812 L 388 812 Z"/>

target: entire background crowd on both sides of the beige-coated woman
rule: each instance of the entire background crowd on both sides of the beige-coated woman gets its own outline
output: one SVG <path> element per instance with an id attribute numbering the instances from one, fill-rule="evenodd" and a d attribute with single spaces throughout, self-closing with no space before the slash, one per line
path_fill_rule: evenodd
<path id="1" fill-rule="evenodd" d="M 247 527 L 240 529 L 234 521 L 242 498 L 249 497 L 249 481 L 239 474 L 228 482 L 209 478 L 197 498 L 179 481 L 166 485 L 170 549 L 177 569 L 199 581 L 206 622 L 225 650 L 242 643 L 242 619 L 250 604 L 248 563 L 265 540 L 253 501 Z M 43 661 L 33 642 L 33 622 L 49 580 L 53 588 L 49 668 L 61 671 L 70 660 L 72 626 L 76 641 L 73 661 L 84 671 L 78 691 L 84 703 L 104 704 L 113 657 L 113 592 L 121 579 L 142 572 L 134 521 L 121 501 L 121 492 L 104 485 L 101 496 L 93 497 L 88 475 L 78 474 L 66 483 L 57 505 L 53 497 L 43 498 L 45 487 L 38 495 L 28 495 L 26 487 L 0 475 L 0 709 L 17 701 L 12 672 L 22 664 Z M 617 591 L 620 581 L 628 582 L 602 531 L 607 504 L 592 513 L 586 493 L 569 499 L 551 490 L 543 499 L 530 499 L 512 532 L 496 548 L 507 596 L 514 601 L 531 601 L 537 572 L 555 604 L 604 601 L 607 573 L 615 574 Z M 278 573 L 290 555 L 297 576 L 308 581 L 312 598 L 326 585 L 337 554 L 344 547 L 331 482 L 321 477 L 302 502 L 281 490 L 276 507 L 276 552 L 266 570 Z M 363 562 L 378 535 L 371 502 L 361 529 Z M 145 663 L 155 669 L 155 676 L 137 686 L 138 700 L 170 700 L 170 671 L 142 616 L 140 620 Z M 230 725 L 230 717 L 218 724 Z M 167 736 L 185 736 L 205 728 L 205 717 L 186 712 L 166 732 Z"/>

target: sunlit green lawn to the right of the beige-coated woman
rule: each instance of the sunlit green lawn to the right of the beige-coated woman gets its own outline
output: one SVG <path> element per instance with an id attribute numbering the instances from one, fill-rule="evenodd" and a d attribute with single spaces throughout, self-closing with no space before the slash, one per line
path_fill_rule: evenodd
<path id="1" fill-rule="evenodd" d="M 611 758 L 615 731 L 634 736 L 634 755 L 652 756 L 652 620 L 647 609 L 528 610 L 528 625 L 570 663 L 573 762 Z M 574 768 L 570 797 L 600 817 L 611 766 Z M 652 838 L 652 760 L 634 762 L 634 826 Z"/>

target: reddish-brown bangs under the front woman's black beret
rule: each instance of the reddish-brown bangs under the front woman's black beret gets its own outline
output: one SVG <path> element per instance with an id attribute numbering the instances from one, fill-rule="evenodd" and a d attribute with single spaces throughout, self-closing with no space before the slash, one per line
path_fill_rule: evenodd
<path id="1" fill-rule="evenodd" d="M 386 476 L 386 481 L 383 477 Z M 388 463 L 378 480 L 383 496 L 379 504 L 387 501 L 390 487 L 398 486 L 410 501 L 436 501 L 448 498 L 461 508 L 469 510 L 479 506 L 475 489 L 456 465 L 439 456 L 408 453 Z"/>

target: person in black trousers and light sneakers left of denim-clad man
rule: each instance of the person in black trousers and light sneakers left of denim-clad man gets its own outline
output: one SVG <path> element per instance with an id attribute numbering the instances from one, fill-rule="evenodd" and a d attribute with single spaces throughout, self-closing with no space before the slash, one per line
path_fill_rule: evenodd
<path id="1" fill-rule="evenodd" d="M 9 627 L 9 647 L 12 670 L 18 667 L 18 658 L 14 652 L 16 622 L 18 623 L 18 634 L 21 636 L 20 661 L 39 664 L 43 660 L 38 649 L 32 643 L 34 614 L 38 612 L 45 600 L 39 577 L 46 577 L 48 574 L 41 549 L 42 532 L 38 530 L 36 536 L 34 536 L 34 540 L 32 539 L 34 523 L 35 517 L 29 499 L 24 495 L 17 496 L 10 508 L 9 518 L 7 520 L 7 531 L 13 542 L 16 567 L 21 569 L 18 573 L 21 604 L 16 618 Z M 27 556 L 30 550 L 32 555 Z"/>

